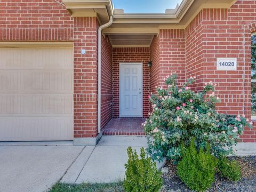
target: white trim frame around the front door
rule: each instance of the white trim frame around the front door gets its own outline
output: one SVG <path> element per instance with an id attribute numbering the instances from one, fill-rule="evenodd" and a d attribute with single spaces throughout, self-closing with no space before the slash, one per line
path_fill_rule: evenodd
<path id="1" fill-rule="evenodd" d="M 122 116 L 121 115 L 121 66 L 122 65 L 140 65 L 141 67 L 141 115 L 140 116 Z M 120 62 L 119 63 L 119 117 L 143 117 L 143 63 L 142 62 Z"/>

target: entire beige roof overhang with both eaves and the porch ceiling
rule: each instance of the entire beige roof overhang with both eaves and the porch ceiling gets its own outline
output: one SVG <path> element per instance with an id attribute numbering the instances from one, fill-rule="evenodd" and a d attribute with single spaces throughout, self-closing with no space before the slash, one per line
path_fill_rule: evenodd
<path id="1" fill-rule="evenodd" d="M 165 13 L 131 14 L 120 9 L 114 12 L 111 0 L 62 0 L 73 17 L 97 17 L 100 25 L 113 15 L 113 24 L 102 31 L 109 35 L 113 46 L 142 46 L 141 43 L 145 46 L 146 42 L 151 42 L 148 39 L 152 37 L 150 35 L 158 34 L 159 29 L 185 29 L 202 9 L 229 9 L 236 1 L 183 0 L 175 9 L 167 9 Z M 139 35 L 147 36 L 143 37 L 144 41 L 138 41 Z"/>

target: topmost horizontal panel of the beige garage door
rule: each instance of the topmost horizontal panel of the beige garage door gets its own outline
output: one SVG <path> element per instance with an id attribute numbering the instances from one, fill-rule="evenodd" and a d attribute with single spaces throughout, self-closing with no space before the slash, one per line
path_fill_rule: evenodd
<path id="1" fill-rule="evenodd" d="M 0 58 L 0 69 L 73 69 L 73 49 L 0 47 Z"/>

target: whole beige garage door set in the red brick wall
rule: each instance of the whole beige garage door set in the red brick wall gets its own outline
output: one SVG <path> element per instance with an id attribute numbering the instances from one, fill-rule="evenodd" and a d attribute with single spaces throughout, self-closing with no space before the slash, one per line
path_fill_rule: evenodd
<path id="1" fill-rule="evenodd" d="M 73 48 L 0 47 L 0 141 L 73 140 Z"/>

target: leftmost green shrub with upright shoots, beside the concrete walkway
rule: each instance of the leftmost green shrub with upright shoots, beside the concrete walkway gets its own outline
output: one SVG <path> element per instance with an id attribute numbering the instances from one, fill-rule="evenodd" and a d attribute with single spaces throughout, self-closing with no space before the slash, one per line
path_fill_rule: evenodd
<path id="1" fill-rule="evenodd" d="M 125 164 L 124 189 L 126 192 L 158 192 L 163 185 L 162 173 L 157 171 L 156 163 L 145 157 L 145 150 L 140 149 L 140 159 L 136 150 L 127 148 L 128 162 Z"/>

